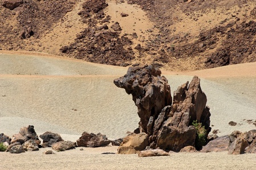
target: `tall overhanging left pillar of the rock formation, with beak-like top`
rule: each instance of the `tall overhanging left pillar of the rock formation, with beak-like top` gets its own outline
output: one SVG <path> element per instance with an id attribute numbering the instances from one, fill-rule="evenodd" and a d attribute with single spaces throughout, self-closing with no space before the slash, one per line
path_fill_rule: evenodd
<path id="1" fill-rule="evenodd" d="M 141 132 L 152 133 L 154 126 L 151 123 L 165 106 L 172 104 L 168 80 L 160 75 L 161 71 L 152 65 L 136 66 L 129 67 L 125 76 L 114 80 L 115 86 L 125 88 L 127 94 L 133 96 L 141 118 Z"/>

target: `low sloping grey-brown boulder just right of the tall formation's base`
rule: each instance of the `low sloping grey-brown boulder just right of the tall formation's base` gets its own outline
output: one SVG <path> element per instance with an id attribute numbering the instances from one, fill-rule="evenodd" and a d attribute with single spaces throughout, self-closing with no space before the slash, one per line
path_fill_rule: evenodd
<path id="1" fill-rule="evenodd" d="M 224 152 L 228 151 L 229 147 L 229 136 L 224 135 L 208 142 L 207 145 L 203 146 L 200 152 Z"/>

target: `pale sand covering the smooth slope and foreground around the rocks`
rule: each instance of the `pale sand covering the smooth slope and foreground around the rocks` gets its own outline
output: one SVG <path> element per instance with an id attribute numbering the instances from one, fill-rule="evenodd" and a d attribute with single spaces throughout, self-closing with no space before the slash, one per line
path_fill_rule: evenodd
<path id="1" fill-rule="evenodd" d="M 25 54 L 0 54 L 0 133 L 11 136 L 22 126 L 34 125 L 38 134 L 49 130 L 76 141 L 83 131 L 119 138 L 137 128 L 139 118 L 131 96 L 113 84 L 127 68 Z M 163 72 L 172 92 L 191 81 L 192 75 L 200 76 L 212 128 L 224 135 L 255 129 L 243 121 L 256 118 L 254 68 L 256 63 L 193 73 Z M 229 121 L 241 125 L 229 126 Z M 76 148 L 56 155 L 43 155 L 43 150 L 18 155 L 0 152 L 0 169 L 253 169 L 256 165 L 253 154 L 234 156 L 226 152 L 138 158 L 100 154 L 117 151 L 110 146 L 84 151 Z"/>

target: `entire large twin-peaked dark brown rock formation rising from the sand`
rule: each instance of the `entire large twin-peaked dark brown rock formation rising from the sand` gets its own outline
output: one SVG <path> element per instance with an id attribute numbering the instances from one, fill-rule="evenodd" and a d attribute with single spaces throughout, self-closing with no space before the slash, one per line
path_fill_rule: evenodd
<path id="1" fill-rule="evenodd" d="M 177 88 L 173 104 L 168 80 L 152 65 L 129 67 L 114 84 L 133 96 L 141 118 L 139 132 L 148 135 L 150 148 L 180 151 L 206 144 L 210 112 L 197 76 Z"/>

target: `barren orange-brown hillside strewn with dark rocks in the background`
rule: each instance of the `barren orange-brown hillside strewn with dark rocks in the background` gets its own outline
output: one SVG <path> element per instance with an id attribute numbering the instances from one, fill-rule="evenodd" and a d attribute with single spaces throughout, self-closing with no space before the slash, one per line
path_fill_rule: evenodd
<path id="1" fill-rule="evenodd" d="M 0 49 L 201 70 L 256 61 L 256 2 L 0 1 Z"/>

